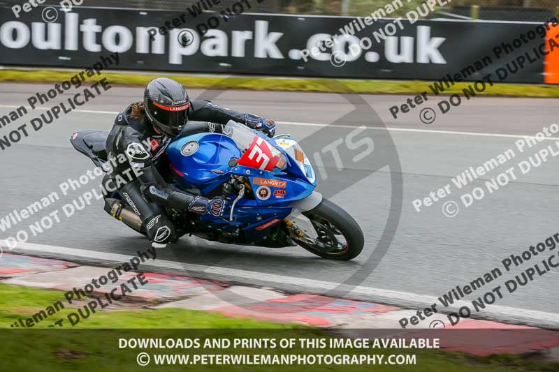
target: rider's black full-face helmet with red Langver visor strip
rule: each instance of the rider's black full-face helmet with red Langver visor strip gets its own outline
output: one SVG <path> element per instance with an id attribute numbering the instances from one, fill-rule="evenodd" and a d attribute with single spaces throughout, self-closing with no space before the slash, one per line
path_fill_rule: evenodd
<path id="1" fill-rule="evenodd" d="M 164 135 L 176 137 L 187 124 L 190 99 L 175 80 L 158 77 L 149 82 L 145 87 L 144 103 L 147 119 Z"/>

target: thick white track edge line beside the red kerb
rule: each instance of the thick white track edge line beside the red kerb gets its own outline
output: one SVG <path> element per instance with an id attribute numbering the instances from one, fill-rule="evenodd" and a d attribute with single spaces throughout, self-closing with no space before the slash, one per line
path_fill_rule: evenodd
<path id="1" fill-rule="evenodd" d="M 119 253 L 108 253 L 99 251 L 89 251 L 85 249 L 66 248 L 61 246 L 47 246 L 43 244 L 18 244 L 16 248 L 10 250 L 5 241 L 0 240 L 0 246 L 3 248 L 4 253 L 26 253 L 26 254 L 55 254 L 57 258 L 64 260 L 64 258 L 78 258 L 89 260 L 105 260 L 110 262 L 126 262 L 131 259 L 129 255 L 122 255 Z M 208 267 L 204 265 L 194 265 L 183 262 L 175 262 L 168 260 L 159 260 L 145 262 L 142 267 L 165 269 L 165 270 L 181 270 L 188 271 L 187 274 L 196 276 L 196 274 L 210 274 L 226 278 L 233 278 L 238 281 L 239 278 L 244 279 L 245 283 L 255 284 L 261 282 L 274 283 L 277 289 L 286 289 L 286 285 L 295 288 L 304 288 L 307 292 L 323 293 L 328 290 L 337 289 L 339 291 L 348 291 L 344 297 L 361 299 L 367 301 L 384 302 L 385 304 L 393 304 L 396 306 L 408 306 L 414 308 L 424 308 L 431 304 L 438 302 L 437 297 L 428 295 L 418 295 L 410 292 L 399 292 L 394 290 L 384 290 L 381 288 L 370 288 L 364 286 L 349 287 L 348 285 L 340 285 L 329 281 L 317 281 L 307 278 L 296 278 L 293 276 L 283 276 L 277 274 L 268 274 L 258 271 L 247 271 L 240 269 L 232 269 L 230 267 Z M 222 280 L 221 278 L 219 280 Z M 445 313 L 451 311 L 458 311 L 460 306 L 469 306 L 472 308 L 472 303 L 464 300 L 455 302 L 453 306 L 444 308 Z M 441 309 L 440 309 L 441 310 Z M 533 311 L 524 308 L 514 308 L 509 306 L 490 305 L 487 306 L 486 311 L 480 313 L 483 318 L 502 320 L 507 322 L 515 322 L 526 325 L 534 325 L 537 327 L 548 327 L 559 329 L 559 315 L 556 313 L 546 313 L 543 311 Z M 427 326 L 427 325 L 426 325 Z"/>

